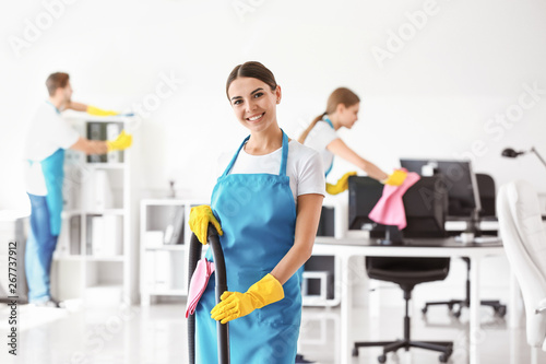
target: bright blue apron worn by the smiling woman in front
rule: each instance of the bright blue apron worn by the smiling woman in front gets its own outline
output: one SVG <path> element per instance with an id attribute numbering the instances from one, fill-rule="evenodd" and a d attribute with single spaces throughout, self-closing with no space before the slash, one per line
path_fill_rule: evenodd
<path id="1" fill-rule="evenodd" d="M 296 204 L 286 176 L 288 137 L 283 132 L 278 175 L 229 174 L 240 145 L 214 187 L 211 207 L 224 235 L 219 237 L 229 291 L 246 292 L 283 259 L 294 245 Z M 212 254 L 207 251 L 207 259 Z M 302 268 L 284 285 L 285 297 L 229 321 L 232 363 L 293 364 L 301 319 Z M 214 278 L 197 307 L 197 359 L 217 363 Z"/>

